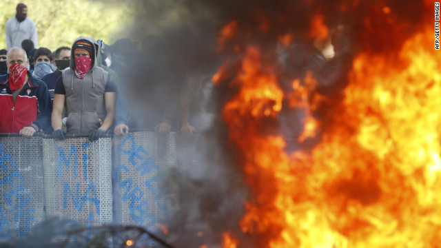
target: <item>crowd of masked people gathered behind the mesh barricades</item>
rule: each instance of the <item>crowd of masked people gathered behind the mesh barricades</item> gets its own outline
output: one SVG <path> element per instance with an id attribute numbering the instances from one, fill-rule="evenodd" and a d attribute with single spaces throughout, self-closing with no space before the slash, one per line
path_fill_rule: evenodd
<path id="1" fill-rule="evenodd" d="M 27 12 L 25 4 L 17 5 L 17 14 L 6 24 L 7 49 L 0 50 L 0 133 L 30 137 L 45 132 L 59 140 L 65 134 L 89 134 L 90 141 L 96 141 L 105 132 L 123 135 L 144 129 L 167 134 L 182 126 L 183 134 L 191 136 L 196 130 L 190 124 L 189 107 L 183 125 L 178 113 L 180 103 L 191 105 L 194 92 L 179 96 L 180 88 L 170 90 L 174 87 L 170 82 L 176 80 L 173 73 L 157 70 L 170 65 L 158 53 L 158 37 L 143 40 L 141 53 L 148 52 L 147 56 L 138 56 L 130 39 L 107 45 L 83 36 L 52 52 L 37 47 L 37 28 Z M 138 62 L 149 75 L 146 101 L 156 106 L 143 113 L 129 107 L 122 94 L 135 56 L 143 58 Z M 160 103 L 164 98 L 168 104 Z M 141 123 L 140 114 L 147 121 Z"/>

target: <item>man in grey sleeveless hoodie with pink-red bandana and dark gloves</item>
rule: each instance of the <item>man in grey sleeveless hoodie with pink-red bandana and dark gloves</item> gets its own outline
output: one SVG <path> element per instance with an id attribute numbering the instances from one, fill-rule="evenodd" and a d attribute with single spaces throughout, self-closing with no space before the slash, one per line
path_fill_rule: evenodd
<path id="1" fill-rule="evenodd" d="M 59 140 L 65 139 L 61 130 L 64 106 L 67 134 L 89 134 L 90 141 L 96 141 L 114 122 L 116 85 L 112 76 L 98 67 L 94 43 L 90 37 L 75 39 L 70 66 L 55 85 L 52 135 Z"/>

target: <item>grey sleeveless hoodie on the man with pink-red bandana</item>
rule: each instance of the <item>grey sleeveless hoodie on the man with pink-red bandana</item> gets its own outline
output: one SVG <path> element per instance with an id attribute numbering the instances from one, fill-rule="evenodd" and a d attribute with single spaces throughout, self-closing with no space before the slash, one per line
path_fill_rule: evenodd
<path id="1" fill-rule="evenodd" d="M 90 37 L 78 37 L 74 43 L 86 40 L 94 44 L 96 41 Z M 105 112 L 105 85 L 108 72 L 97 66 L 96 47 L 93 46 L 92 69 L 79 79 L 74 73 L 74 49 L 70 56 L 70 66 L 63 70 L 63 86 L 65 89 L 65 114 L 67 134 L 88 134 L 101 127 L 107 113 Z M 92 55 L 92 54 L 91 54 Z"/>

